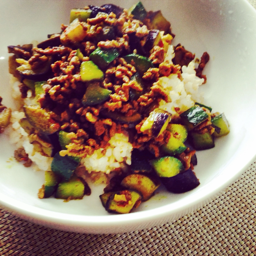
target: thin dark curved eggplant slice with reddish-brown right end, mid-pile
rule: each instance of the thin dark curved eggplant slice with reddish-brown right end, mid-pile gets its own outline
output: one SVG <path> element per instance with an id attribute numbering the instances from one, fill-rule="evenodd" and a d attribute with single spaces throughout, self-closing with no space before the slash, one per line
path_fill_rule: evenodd
<path id="1" fill-rule="evenodd" d="M 100 114 L 101 116 L 104 116 L 106 118 L 111 118 L 113 121 L 116 121 L 121 124 L 139 123 L 142 119 L 139 113 L 136 113 L 132 116 L 125 116 L 124 114 L 119 112 L 115 112 L 115 111 L 110 112 L 108 110 L 101 110 Z"/>

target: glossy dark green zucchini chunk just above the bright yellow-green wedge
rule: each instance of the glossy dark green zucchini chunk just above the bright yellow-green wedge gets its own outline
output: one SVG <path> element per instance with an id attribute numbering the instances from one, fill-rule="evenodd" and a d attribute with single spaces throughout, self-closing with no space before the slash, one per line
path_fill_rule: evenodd
<path id="1" fill-rule="evenodd" d="M 90 60 L 100 67 L 100 69 L 105 69 L 119 54 L 116 48 L 102 50 L 98 47 L 90 54 Z"/>

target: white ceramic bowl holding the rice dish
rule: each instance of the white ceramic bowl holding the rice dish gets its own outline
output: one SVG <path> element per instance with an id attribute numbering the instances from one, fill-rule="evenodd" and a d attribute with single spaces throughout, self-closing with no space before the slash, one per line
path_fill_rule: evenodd
<path id="1" fill-rule="evenodd" d="M 47 34 L 67 24 L 72 7 L 102 5 L 110 1 L 0 2 L 0 95 L 13 106 L 10 97 L 7 45 L 43 41 Z M 133 1 L 114 1 L 125 8 Z M 213 149 L 197 152 L 196 176 L 201 185 L 174 195 L 159 189 L 133 213 L 108 214 L 98 196 L 103 187 L 92 187 L 92 195 L 64 203 L 54 198 L 38 199 L 44 173 L 34 172 L 8 159 L 13 148 L 0 136 L 0 203 L 12 213 L 39 224 L 82 233 L 118 233 L 149 228 L 175 220 L 210 200 L 234 181 L 255 159 L 256 127 L 256 12 L 246 0 L 162 0 L 147 1 L 147 10 L 161 9 L 181 43 L 200 57 L 207 51 L 210 61 L 202 85 L 205 104 L 224 112 L 230 134 L 216 140 Z"/>

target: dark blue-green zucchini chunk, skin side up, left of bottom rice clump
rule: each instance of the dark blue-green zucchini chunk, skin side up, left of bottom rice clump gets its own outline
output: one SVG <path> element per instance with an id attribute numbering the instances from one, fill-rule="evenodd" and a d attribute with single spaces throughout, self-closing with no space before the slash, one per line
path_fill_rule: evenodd
<path id="1" fill-rule="evenodd" d="M 63 180 L 68 181 L 75 171 L 78 162 L 73 160 L 70 156 L 60 156 L 59 152 L 53 157 L 51 169 Z"/>

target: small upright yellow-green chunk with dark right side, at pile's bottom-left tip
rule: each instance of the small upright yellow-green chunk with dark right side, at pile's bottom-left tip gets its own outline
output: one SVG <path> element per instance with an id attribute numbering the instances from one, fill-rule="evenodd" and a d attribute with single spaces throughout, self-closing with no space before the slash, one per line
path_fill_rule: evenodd
<path id="1" fill-rule="evenodd" d="M 44 172 L 44 185 L 39 189 L 38 197 L 39 198 L 48 198 L 52 196 L 57 189 L 57 186 L 60 182 L 60 177 L 52 172 L 45 171 Z"/>

